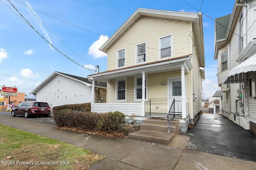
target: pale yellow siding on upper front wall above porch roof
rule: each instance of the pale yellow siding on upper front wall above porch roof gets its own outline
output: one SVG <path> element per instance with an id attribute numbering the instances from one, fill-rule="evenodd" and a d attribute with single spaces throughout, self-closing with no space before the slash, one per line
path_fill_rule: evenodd
<path id="1" fill-rule="evenodd" d="M 190 22 L 142 17 L 108 49 L 108 70 L 117 68 L 116 52 L 123 48 L 126 48 L 125 66 L 135 65 L 136 44 L 141 42 L 147 42 L 147 62 L 158 61 L 158 38 L 170 33 L 173 36 L 173 57 L 189 54 Z"/>

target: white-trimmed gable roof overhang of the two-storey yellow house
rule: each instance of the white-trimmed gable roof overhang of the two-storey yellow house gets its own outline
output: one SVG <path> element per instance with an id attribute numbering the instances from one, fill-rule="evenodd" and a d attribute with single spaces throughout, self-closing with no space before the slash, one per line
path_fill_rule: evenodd
<path id="1" fill-rule="evenodd" d="M 100 51 L 104 53 L 108 52 L 115 41 L 131 27 L 139 18 L 143 16 L 154 17 L 154 18 L 165 18 L 170 20 L 190 21 L 193 25 L 194 36 L 196 41 L 196 47 L 198 49 L 198 56 L 200 67 L 205 67 L 204 63 L 204 35 L 202 25 L 202 13 L 191 13 L 191 12 L 174 12 L 164 10 L 152 10 L 145 8 L 138 8 L 129 18 L 126 20 L 121 27 L 100 47 Z"/>

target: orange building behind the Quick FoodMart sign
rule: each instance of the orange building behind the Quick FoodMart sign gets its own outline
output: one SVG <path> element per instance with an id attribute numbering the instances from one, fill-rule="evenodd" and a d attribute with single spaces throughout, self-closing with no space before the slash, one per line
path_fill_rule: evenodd
<path id="1" fill-rule="evenodd" d="M 8 104 L 10 104 L 10 106 L 13 106 L 13 105 L 16 106 L 20 102 L 24 102 L 24 101 L 25 101 L 25 93 L 18 93 L 18 96 L 1 96 L 0 106 L 2 109 L 7 109 Z"/>

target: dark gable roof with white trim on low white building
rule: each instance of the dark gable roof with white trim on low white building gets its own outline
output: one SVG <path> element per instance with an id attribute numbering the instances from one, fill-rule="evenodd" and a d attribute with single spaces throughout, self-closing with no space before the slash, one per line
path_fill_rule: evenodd
<path id="1" fill-rule="evenodd" d="M 71 74 L 66 74 L 66 73 L 62 73 L 62 72 L 57 72 L 57 71 L 54 71 L 48 78 L 46 78 L 41 84 L 39 84 L 34 90 L 32 90 L 32 92 L 30 93 L 36 93 L 40 88 L 42 88 L 43 86 L 45 86 L 48 82 L 50 82 L 54 77 L 56 77 L 57 75 L 61 75 L 61 76 L 64 76 L 64 77 L 67 77 L 67 78 L 70 78 L 72 80 L 75 80 L 75 81 L 78 81 L 78 82 L 81 82 L 83 84 L 85 84 L 86 86 L 92 86 L 92 82 L 88 79 L 88 78 L 84 78 L 84 77 L 79 77 L 79 76 L 74 76 L 74 75 L 71 75 Z M 95 81 L 95 86 L 96 87 L 103 87 L 103 88 L 106 88 L 107 87 L 107 84 L 105 82 L 99 82 L 98 84 L 98 81 Z"/>

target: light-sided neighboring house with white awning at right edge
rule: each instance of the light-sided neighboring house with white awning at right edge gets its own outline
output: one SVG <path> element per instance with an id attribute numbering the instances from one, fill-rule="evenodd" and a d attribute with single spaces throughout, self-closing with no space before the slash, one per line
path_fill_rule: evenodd
<path id="1" fill-rule="evenodd" d="M 256 133 L 256 0 L 235 0 L 215 21 L 221 114 Z"/>

